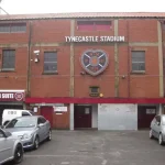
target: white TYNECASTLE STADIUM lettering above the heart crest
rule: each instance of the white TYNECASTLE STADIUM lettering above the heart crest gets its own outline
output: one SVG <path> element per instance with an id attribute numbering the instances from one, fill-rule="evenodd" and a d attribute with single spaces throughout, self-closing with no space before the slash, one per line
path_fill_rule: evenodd
<path id="1" fill-rule="evenodd" d="M 65 36 L 66 42 L 124 42 L 124 36 Z"/>

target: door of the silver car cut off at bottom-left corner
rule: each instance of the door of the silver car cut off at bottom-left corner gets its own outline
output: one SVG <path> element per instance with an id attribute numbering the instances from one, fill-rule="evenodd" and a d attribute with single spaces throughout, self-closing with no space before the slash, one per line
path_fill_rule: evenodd
<path id="1" fill-rule="evenodd" d="M 11 157 L 13 141 L 10 138 L 6 138 L 2 130 L 0 130 L 0 162 Z"/>

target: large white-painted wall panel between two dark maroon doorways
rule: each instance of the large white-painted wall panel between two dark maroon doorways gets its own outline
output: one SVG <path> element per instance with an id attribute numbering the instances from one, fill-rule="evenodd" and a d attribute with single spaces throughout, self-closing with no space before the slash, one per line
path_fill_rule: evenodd
<path id="1" fill-rule="evenodd" d="M 138 105 L 99 103 L 98 130 L 138 130 Z"/>

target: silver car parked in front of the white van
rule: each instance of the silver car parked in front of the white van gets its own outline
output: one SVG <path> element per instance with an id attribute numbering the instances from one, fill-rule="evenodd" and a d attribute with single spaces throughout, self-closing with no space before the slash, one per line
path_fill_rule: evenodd
<path id="1" fill-rule="evenodd" d="M 41 142 L 52 139 L 51 123 L 42 116 L 19 117 L 12 119 L 6 127 L 12 135 L 19 138 L 23 148 L 37 150 Z"/>

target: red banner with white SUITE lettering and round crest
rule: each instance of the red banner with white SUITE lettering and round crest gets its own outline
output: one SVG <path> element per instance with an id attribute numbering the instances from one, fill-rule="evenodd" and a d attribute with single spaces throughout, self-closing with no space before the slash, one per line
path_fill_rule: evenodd
<path id="1" fill-rule="evenodd" d="M 0 90 L 0 101 L 24 101 L 23 90 Z"/>

